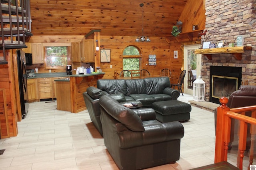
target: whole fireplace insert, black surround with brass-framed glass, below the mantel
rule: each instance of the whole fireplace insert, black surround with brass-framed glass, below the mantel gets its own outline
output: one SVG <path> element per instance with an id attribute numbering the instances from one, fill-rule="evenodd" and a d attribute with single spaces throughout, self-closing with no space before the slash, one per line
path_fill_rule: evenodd
<path id="1" fill-rule="evenodd" d="M 220 104 L 222 96 L 229 97 L 242 82 L 242 67 L 210 67 L 210 102 Z"/>

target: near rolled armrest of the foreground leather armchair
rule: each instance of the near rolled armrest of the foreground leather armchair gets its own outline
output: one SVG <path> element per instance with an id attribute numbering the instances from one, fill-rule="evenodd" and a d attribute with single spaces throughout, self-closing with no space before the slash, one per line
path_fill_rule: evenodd
<path id="1" fill-rule="evenodd" d="M 127 130 L 119 133 L 120 148 L 127 149 L 164 141 L 172 141 L 181 139 L 184 136 L 184 127 L 178 121 L 148 125 L 144 128 L 144 132 Z"/>

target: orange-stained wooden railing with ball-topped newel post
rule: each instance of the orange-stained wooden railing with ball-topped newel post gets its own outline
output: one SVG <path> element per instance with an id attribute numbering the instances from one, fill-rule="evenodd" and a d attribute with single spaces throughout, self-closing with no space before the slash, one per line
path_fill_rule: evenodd
<path id="1" fill-rule="evenodd" d="M 228 98 L 220 98 L 221 106 L 217 108 L 216 122 L 216 143 L 215 143 L 215 160 L 214 163 L 228 161 L 228 145 L 230 143 L 231 119 L 240 121 L 238 126 L 238 158 L 237 167 L 243 169 L 244 150 L 246 150 L 247 127 L 251 124 L 251 148 L 249 155 L 249 165 L 253 164 L 254 138 L 256 135 L 256 106 L 238 107 L 230 109 L 226 106 Z M 245 112 L 251 111 L 252 117 L 245 115 Z M 256 162 L 254 163 L 256 164 Z"/>

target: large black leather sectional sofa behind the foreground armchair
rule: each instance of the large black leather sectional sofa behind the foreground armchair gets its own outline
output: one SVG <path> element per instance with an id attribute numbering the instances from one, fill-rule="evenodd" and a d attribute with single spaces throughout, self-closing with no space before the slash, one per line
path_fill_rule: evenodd
<path id="1" fill-rule="evenodd" d="M 103 95 L 110 95 L 120 103 L 141 102 L 143 107 L 151 107 L 153 102 L 177 100 L 180 96 L 180 92 L 170 88 L 170 80 L 168 77 L 131 80 L 98 80 L 97 88 L 90 86 L 87 88 L 86 92 L 83 93 L 83 97 L 90 119 L 101 136 L 103 136 L 103 133 L 100 122 L 99 99 Z"/>

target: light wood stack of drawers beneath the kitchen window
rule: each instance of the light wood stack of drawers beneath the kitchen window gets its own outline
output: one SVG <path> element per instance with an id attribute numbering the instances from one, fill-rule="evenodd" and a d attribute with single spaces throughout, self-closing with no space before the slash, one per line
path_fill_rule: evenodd
<path id="1" fill-rule="evenodd" d="M 52 98 L 52 78 L 38 78 L 38 94 L 39 100 Z"/>

